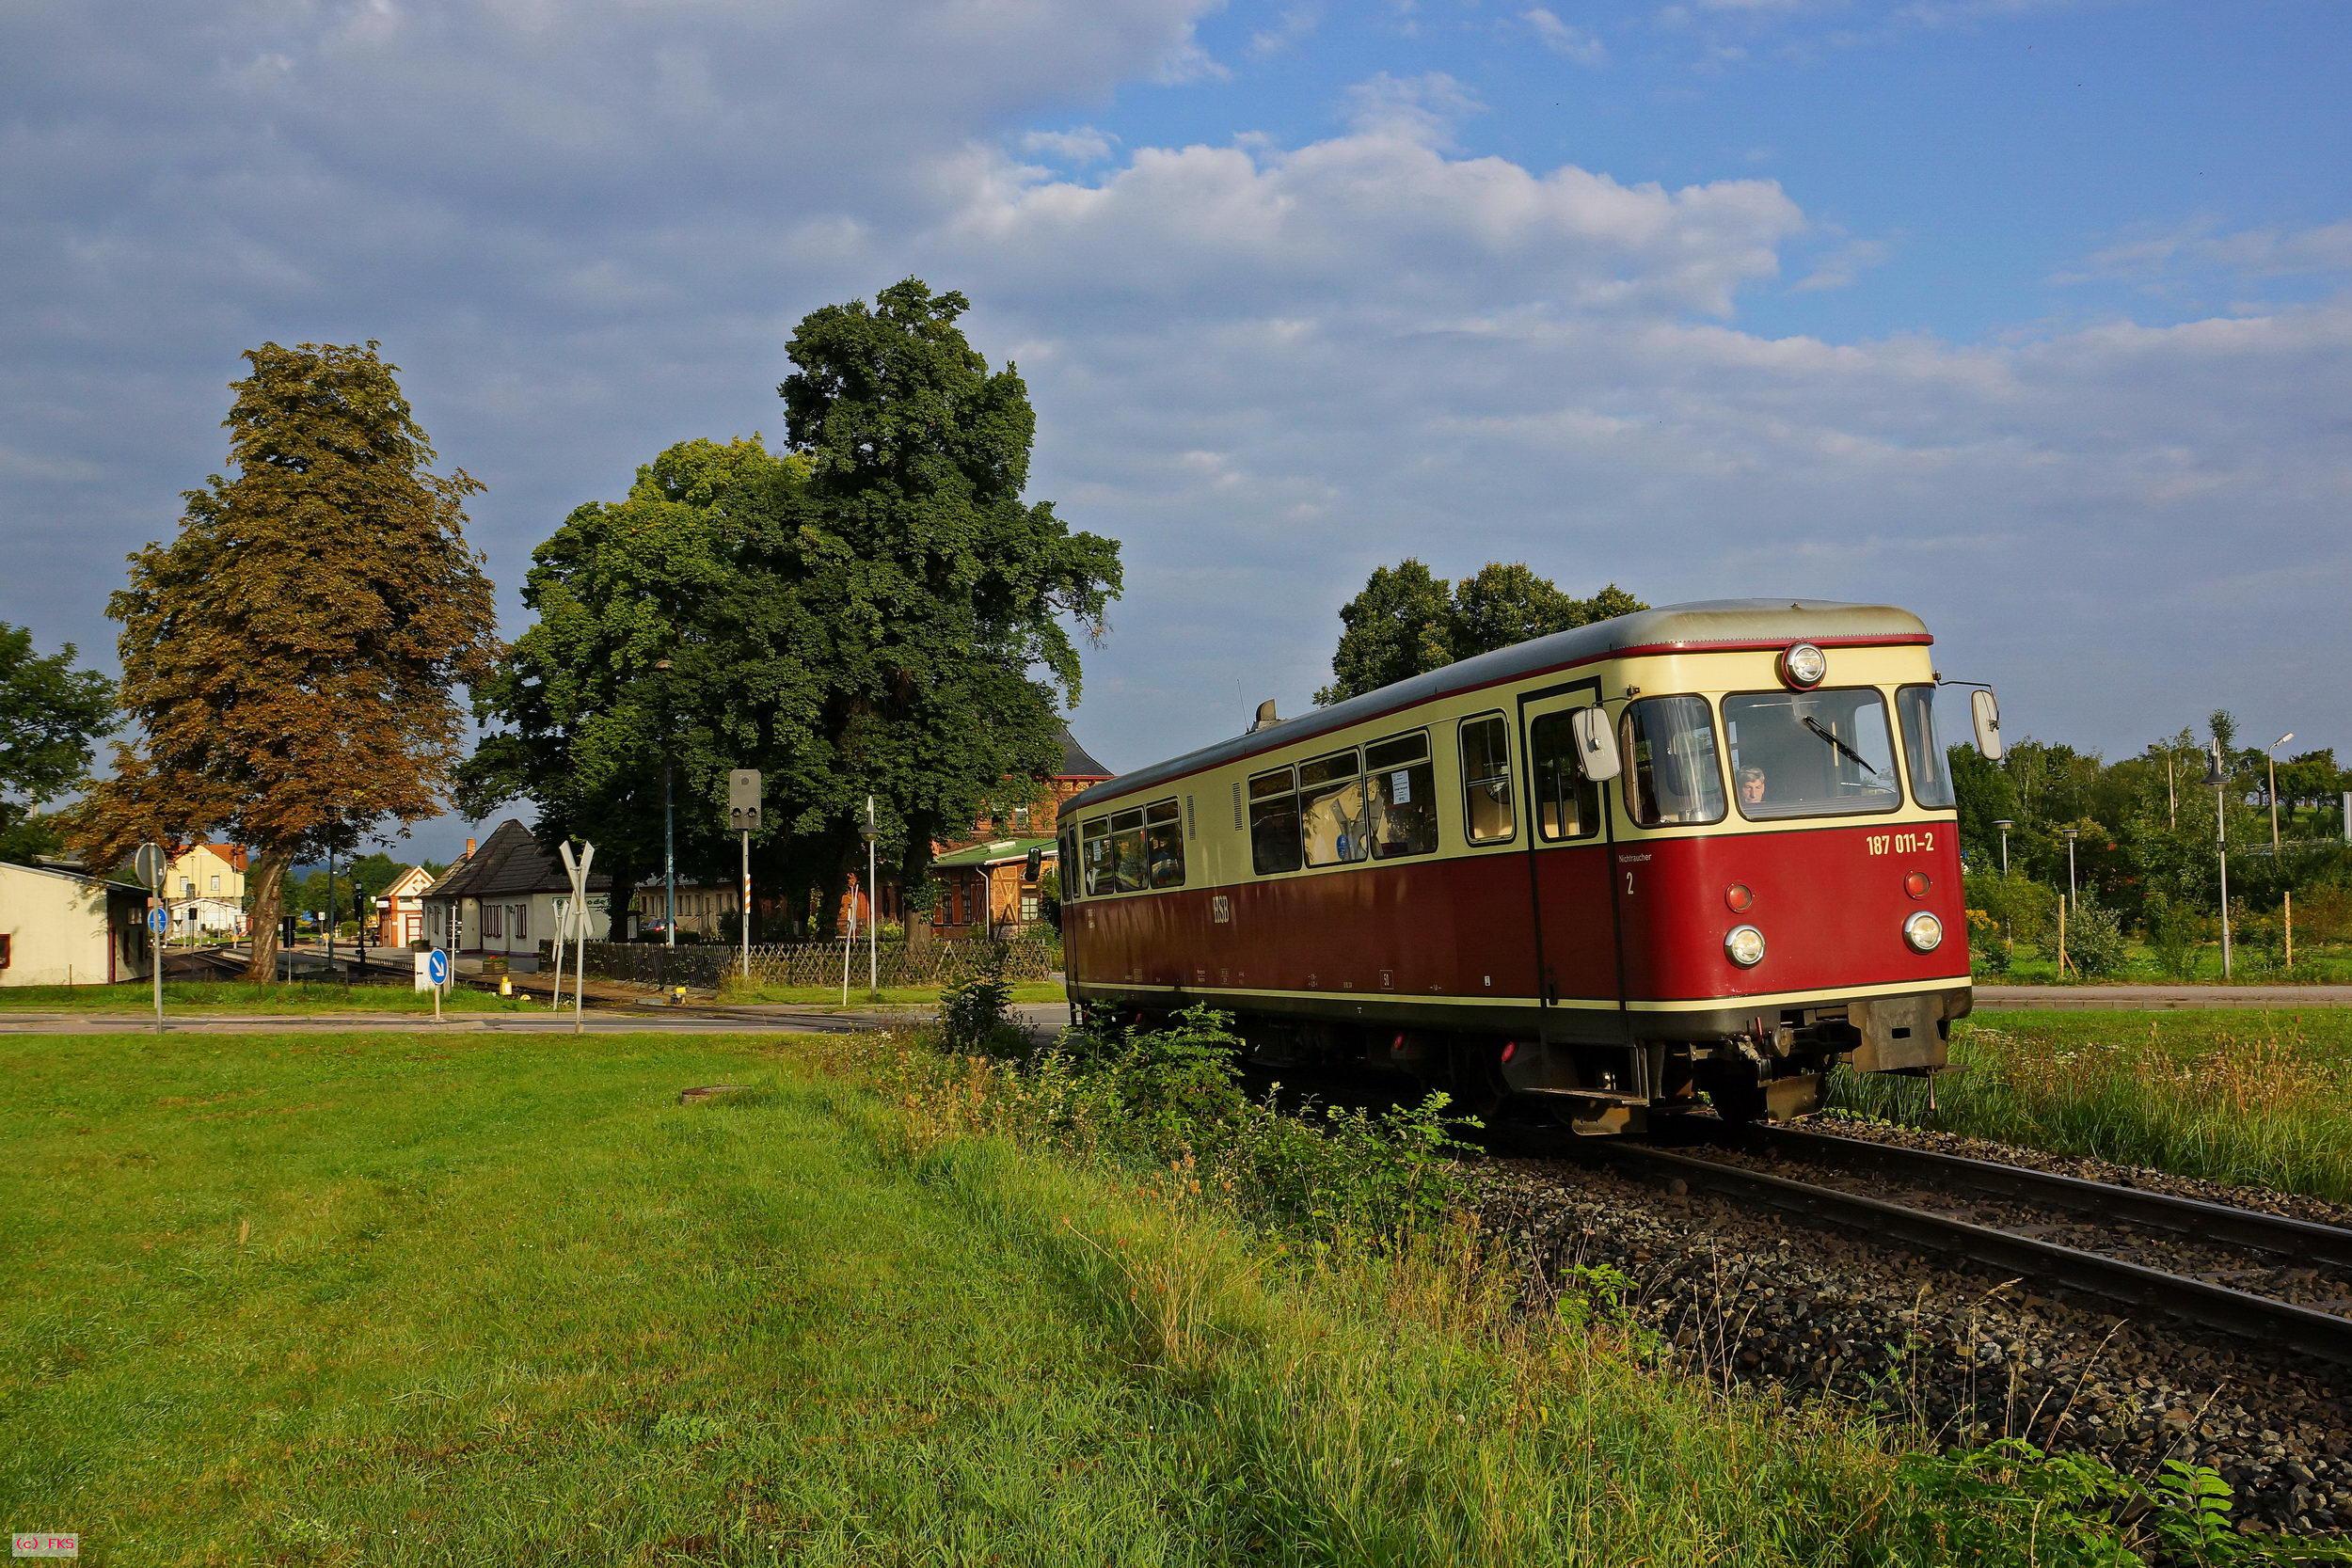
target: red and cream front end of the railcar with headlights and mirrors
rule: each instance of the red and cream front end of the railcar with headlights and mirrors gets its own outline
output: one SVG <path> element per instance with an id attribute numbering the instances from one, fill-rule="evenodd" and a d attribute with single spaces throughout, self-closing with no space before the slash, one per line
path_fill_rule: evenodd
<path id="1" fill-rule="evenodd" d="M 1950 682 L 1924 649 L 1795 642 L 1613 672 L 1618 691 L 1557 698 L 1569 759 L 1538 755 L 1531 773 L 1550 797 L 1538 809 L 1599 813 L 1616 797 L 1621 1011 L 1555 1011 L 1541 1048 L 1503 1053 L 1498 1088 L 1616 1133 L 1698 1093 L 1738 1121 L 1797 1117 L 1818 1110 L 1839 1060 L 1940 1070 L 1971 997 L 1933 717 Z M 1987 686 L 1969 715 L 1976 750 L 1997 762 Z"/>

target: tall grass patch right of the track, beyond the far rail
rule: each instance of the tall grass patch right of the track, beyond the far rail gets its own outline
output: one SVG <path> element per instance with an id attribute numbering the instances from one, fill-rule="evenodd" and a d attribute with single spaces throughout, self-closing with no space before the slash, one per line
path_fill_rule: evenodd
<path id="1" fill-rule="evenodd" d="M 2352 1009 L 2013 1011 L 1952 1032 L 1936 1084 L 1832 1105 L 2067 1154 L 2352 1201 Z"/>

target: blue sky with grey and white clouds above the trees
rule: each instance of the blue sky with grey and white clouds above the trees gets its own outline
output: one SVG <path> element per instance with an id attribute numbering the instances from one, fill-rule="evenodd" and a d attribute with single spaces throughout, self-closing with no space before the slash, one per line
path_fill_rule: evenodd
<path id="1" fill-rule="evenodd" d="M 379 339 L 517 635 L 569 508 L 920 275 L 1122 541 L 1115 769 L 1303 710 L 1404 555 L 2352 752 L 2345 80 L 2343 0 L 12 0 L 0 621 L 113 668 L 240 350 Z"/>

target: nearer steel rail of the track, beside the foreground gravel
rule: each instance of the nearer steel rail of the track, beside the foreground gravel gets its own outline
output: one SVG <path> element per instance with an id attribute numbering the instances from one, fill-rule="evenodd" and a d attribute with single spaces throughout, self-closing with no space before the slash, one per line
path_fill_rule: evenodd
<path id="1" fill-rule="evenodd" d="M 1653 1173 L 1682 1178 L 1693 1190 L 1717 1192 L 1743 1204 L 1764 1204 L 1813 1225 L 1879 1241 L 1896 1239 L 1919 1251 L 1966 1258 L 2107 1302 L 2161 1312 L 2272 1352 L 2300 1352 L 2336 1366 L 2352 1366 L 2352 1319 L 2328 1312 L 1656 1145 L 1609 1143 L 1595 1147 L 1592 1154 L 1623 1166 L 1646 1166 Z"/>

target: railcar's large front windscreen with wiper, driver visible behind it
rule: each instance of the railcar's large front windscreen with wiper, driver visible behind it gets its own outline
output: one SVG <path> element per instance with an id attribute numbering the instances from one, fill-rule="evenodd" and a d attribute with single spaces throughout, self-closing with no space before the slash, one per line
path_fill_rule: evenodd
<path id="1" fill-rule="evenodd" d="M 1903 804 L 1886 698 L 1870 686 L 1724 698 L 1740 816 L 1856 816 Z"/>

